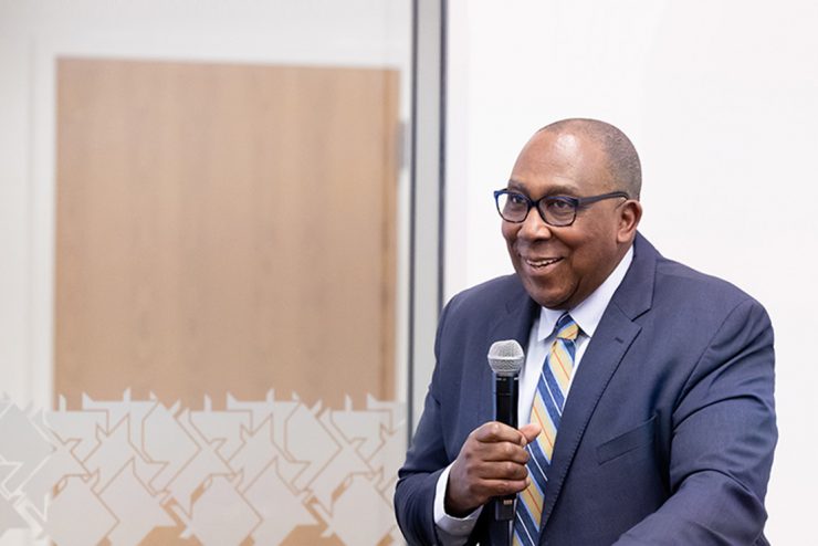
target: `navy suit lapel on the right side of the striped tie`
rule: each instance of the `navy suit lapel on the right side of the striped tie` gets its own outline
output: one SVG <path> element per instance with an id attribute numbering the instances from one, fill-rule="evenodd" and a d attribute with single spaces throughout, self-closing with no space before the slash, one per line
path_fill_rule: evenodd
<path id="1" fill-rule="evenodd" d="M 633 250 L 633 262 L 588 344 L 563 410 L 554 458 L 548 470 L 543 526 L 554 511 L 565 476 L 597 402 L 628 347 L 641 330 L 641 326 L 633 319 L 651 305 L 658 253 L 640 234 L 637 234 Z"/>

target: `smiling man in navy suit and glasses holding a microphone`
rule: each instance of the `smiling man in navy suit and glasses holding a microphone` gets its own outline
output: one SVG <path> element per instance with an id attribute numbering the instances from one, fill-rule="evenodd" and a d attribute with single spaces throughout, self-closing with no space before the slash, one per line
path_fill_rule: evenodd
<path id="1" fill-rule="evenodd" d="M 523 148 L 495 192 L 516 274 L 440 318 L 395 494 L 410 544 L 507 544 L 493 508 L 506 494 L 514 544 L 768 544 L 769 319 L 637 232 L 640 188 L 633 146 L 606 123 L 558 122 Z M 501 339 L 526 348 L 520 429 L 492 421 Z"/>

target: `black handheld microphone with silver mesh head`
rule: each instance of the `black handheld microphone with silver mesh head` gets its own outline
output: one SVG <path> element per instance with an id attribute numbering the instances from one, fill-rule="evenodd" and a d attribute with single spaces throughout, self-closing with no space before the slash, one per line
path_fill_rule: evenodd
<path id="1" fill-rule="evenodd" d="M 494 342 L 489 349 L 489 366 L 494 371 L 494 416 L 495 420 L 517 428 L 517 397 L 520 392 L 520 370 L 525 354 L 514 339 Z M 494 518 L 497 522 L 514 519 L 516 494 L 497 497 L 494 503 Z"/>

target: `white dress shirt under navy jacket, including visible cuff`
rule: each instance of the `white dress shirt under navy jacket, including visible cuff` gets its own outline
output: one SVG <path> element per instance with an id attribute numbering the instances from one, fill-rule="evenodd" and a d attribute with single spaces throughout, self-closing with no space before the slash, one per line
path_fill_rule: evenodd
<path id="1" fill-rule="evenodd" d="M 625 274 L 628 272 L 630 263 L 633 261 L 633 246 L 628 249 L 622 260 L 616 269 L 608 275 L 608 279 L 599 285 L 588 297 L 579 305 L 570 309 L 571 318 L 579 326 L 579 336 L 576 339 L 576 355 L 574 357 L 574 372 L 568 384 L 568 395 L 570 385 L 576 377 L 577 368 L 583 359 L 588 342 L 594 337 L 594 333 L 599 326 L 605 309 L 610 303 L 610 298 L 621 284 Z M 556 333 L 554 327 L 557 319 L 565 313 L 563 309 L 549 309 L 541 307 L 539 317 L 534 321 L 531 334 L 528 335 L 528 349 L 525 353 L 525 365 L 520 374 L 520 397 L 517 399 L 517 417 L 521 423 L 526 423 L 531 419 L 531 408 L 534 403 L 534 392 L 537 389 L 539 374 L 543 370 L 545 357 L 554 342 Z M 487 364 L 486 364 L 487 366 Z M 445 468 L 438 479 L 438 485 L 434 491 L 434 523 L 438 526 L 438 537 L 442 546 L 460 546 L 465 544 L 469 534 L 474 528 L 480 513 L 483 507 L 476 508 L 465 517 L 453 517 L 445 513 L 443 501 L 445 498 L 445 486 L 449 483 L 449 472 L 451 464 Z"/>

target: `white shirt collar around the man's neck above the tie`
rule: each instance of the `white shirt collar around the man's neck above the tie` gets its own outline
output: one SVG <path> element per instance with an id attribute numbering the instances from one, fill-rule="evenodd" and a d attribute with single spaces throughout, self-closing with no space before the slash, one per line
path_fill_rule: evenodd
<path id="1" fill-rule="evenodd" d="M 633 245 L 628 249 L 622 260 L 608 275 L 602 284 L 591 294 L 586 297 L 579 305 L 569 309 L 571 318 L 577 323 L 579 329 L 588 337 L 594 337 L 594 333 L 599 326 L 599 321 L 602 319 L 602 314 L 610 303 L 610 298 L 614 297 L 614 293 L 617 291 L 619 285 L 625 279 L 625 274 L 628 272 L 628 267 L 633 261 Z M 539 327 L 537 328 L 537 339 L 544 340 L 554 333 L 554 327 L 557 324 L 557 319 L 563 316 L 565 309 L 549 309 L 547 307 L 539 308 Z"/>

